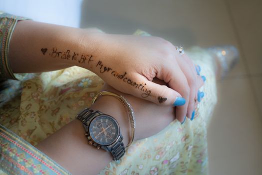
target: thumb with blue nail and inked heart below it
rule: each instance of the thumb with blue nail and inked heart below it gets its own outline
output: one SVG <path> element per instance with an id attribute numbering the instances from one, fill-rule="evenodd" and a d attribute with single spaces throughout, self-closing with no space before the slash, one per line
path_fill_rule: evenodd
<path id="1" fill-rule="evenodd" d="M 186 103 L 185 98 L 179 92 L 166 85 L 160 85 L 149 80 L 138 80 L 138 82 L 143 83 L 135 86 L 136 91 L 133 95 L 137 97 L 160 105 L 180 106 Z"/>

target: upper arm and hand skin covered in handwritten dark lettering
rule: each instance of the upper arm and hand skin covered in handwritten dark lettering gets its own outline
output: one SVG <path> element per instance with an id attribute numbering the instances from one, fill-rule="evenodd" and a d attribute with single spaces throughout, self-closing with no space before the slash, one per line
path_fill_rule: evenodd
<path id="1" fill-rule="evenodd" d="M 74 53 L 78 55 L 73 58 Z M 117 90 L 158 105 L 172 106 L 176 97 L 182 96 L 186 103 L 176 107 L 176 118 L 181 122 L 186 115 L 191 117 L 196 92 L 203 84 L 186 54 L 181 56 L 169 41 L 154 36 L 107 34 L 22 20 L 12 34 L 8 58 L 15 73 L 81 66 Z M 126 72 L 130 82 L 143 87 L 130 85 L 112 71 Z M 153 78 L 166 85 L 152 82 Z M 150 93 L 145 96 L 145 92 Z"/>

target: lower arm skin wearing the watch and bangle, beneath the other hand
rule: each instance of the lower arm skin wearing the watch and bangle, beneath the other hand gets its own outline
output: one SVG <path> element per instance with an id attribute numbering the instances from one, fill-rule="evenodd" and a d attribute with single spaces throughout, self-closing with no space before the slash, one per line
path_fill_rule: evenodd
<path id="1" fill-rule="evenodd" d="M 174 119 L 173 107 L 159 106 L 152 102 L 123 94 L 108 85 L 105 85 L 103 90 L 122 94 L 131 103 L 137 123 L 135 140 L 159 132 Z M 141 106 L 143 106 L 143 110 L 141 110 Z M 130 125 L 123 104 L 118 99 L 106 95 L 99 97 L 91 108 L 116 118 L 126 145 L 129 141 Z M 98 150 L 89 145 L 84 133 L 82 123 L 75 119 L 40 142 L 36 147 L 72 174 L 86 174 L 87 172 L 88 174 L 97 174 L 112 160 L 112 157 L 110 153 L 105 152 L 103 149 Z"/>

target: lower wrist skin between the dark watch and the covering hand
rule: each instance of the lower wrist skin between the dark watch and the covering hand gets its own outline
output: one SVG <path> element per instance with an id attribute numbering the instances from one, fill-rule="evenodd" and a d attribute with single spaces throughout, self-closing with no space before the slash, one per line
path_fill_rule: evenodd
<path id="1" fill-rule="evenodd" d="M 158 81 L 155 80 L 155 82 Z M 105 83 L 104 87 L 102 88 L 102 91 L 104 90 L 114 92 L 118 95 L 123 95 L 131 104 L 136 117 L 134 140 L 142 139 L 156 134 L 175 119 L 174 107 L 172 106 L 160 106 L 148 100 L 144 100 L 130 94 L 122 93 L 114 89 L 107 83 Z M 119 102 L 118 99 L 114 99 L 114 97 L 110 98 L 110 96 L 102 96 L 98 100 L 91 106 L 91 108 L 95 107 L 96 110 L 100 110 L 105 113 L 110 112 L 107 114 L 116 117 L 117 121 L 125 119 L 124 122 L 126 122 L 126 125 L 124 129 L 126 129 L 126 134 L 128 135 L 124 138 L 127 139 L 125 141 L 128 142 L 131 129 L 130 124 L 128 123 L 129 120 L 125 107 Z"/>

